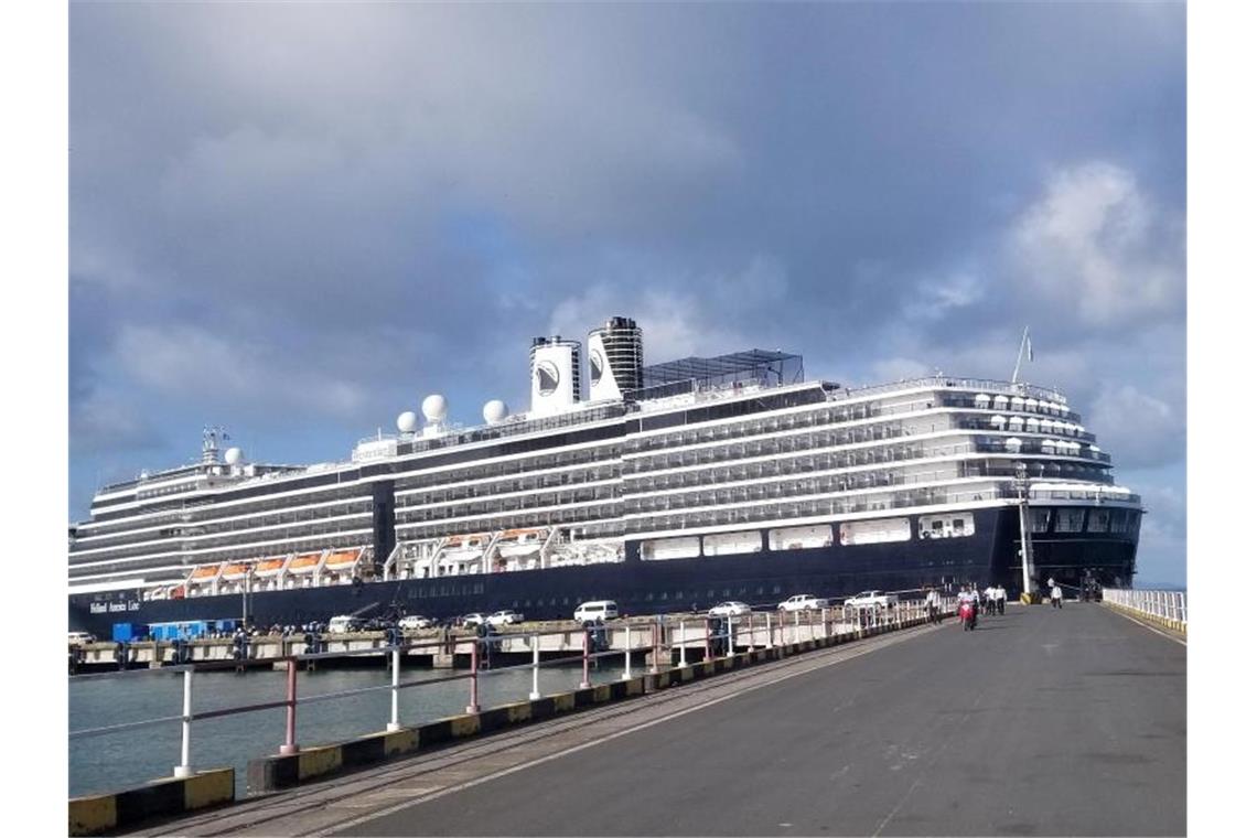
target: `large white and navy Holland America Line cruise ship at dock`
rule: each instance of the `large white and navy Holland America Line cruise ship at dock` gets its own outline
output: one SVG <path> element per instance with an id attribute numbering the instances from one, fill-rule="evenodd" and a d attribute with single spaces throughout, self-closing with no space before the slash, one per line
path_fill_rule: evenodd
<path id="1" fill-rule="evenodd" d="M 1016 596 L 1135 573 L 1139 496 L 1065 395 L 1016 373 L 843 387 L 760 349 L 646 366 L 623 317 L 585 351 L 535 338 L 528 411 L 494 400 L 460 427 L 432 395 L 339 462 L 250 462 L 205 431 L 199 461 L 104 486 L 70 526 L 70 628 Z"/>

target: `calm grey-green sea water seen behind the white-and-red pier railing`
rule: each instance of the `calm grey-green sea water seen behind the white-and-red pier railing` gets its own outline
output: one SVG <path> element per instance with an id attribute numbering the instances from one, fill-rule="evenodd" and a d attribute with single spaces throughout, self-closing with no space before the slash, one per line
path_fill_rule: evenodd
<path id="1" fill-rule="evenodd" d="M 618 666 L 616 666 L 618 663 Z M 641 667 L 632 672 L 640 673 Z M 463 670 L 461 672 L 466 672 Z M 458 672 L 402 667 L 401 681 L 442 678 Z M 605 658 L 591 670 L 592 683 L 618 681 L 620 658 Z M 542 695 L 574 690 L 581 666 L 543 666 L 538 673 Z M 326 668 L 298 672 L 297 744 L 338 743 L 385 730 L 391 715 L 391 690 L 304 704 L 303 699 L 392 682 L 383 662 L 378 668 Z M 525 701 L 533 688 L 532 668 L 481 671 L 479 700 L 483 709 Z M 192 712 L 283 701 L 287 673 L 273 670 L 197 672 L 192 680 Z M 398 721 L 419 725 L 465 711 L 470 681 L 445 681 L 398 691 Z M 184 675 L 141 670 L 107 676 L 69 678 L 69 730 L 104 727 L 167 716 L 184 711 Z M 245 768 L 250 759 L 279 753 L 284 741 L 283 707 L 221 716 L 192 722 L 190 763 L 194 769 L 235 768 L 236 798 L 245 793 Z M 180 763 L 182 725 L 161 725 L 69 740 L 69 795 L 119 792 L 148 780 L 171 776 Z"/>

